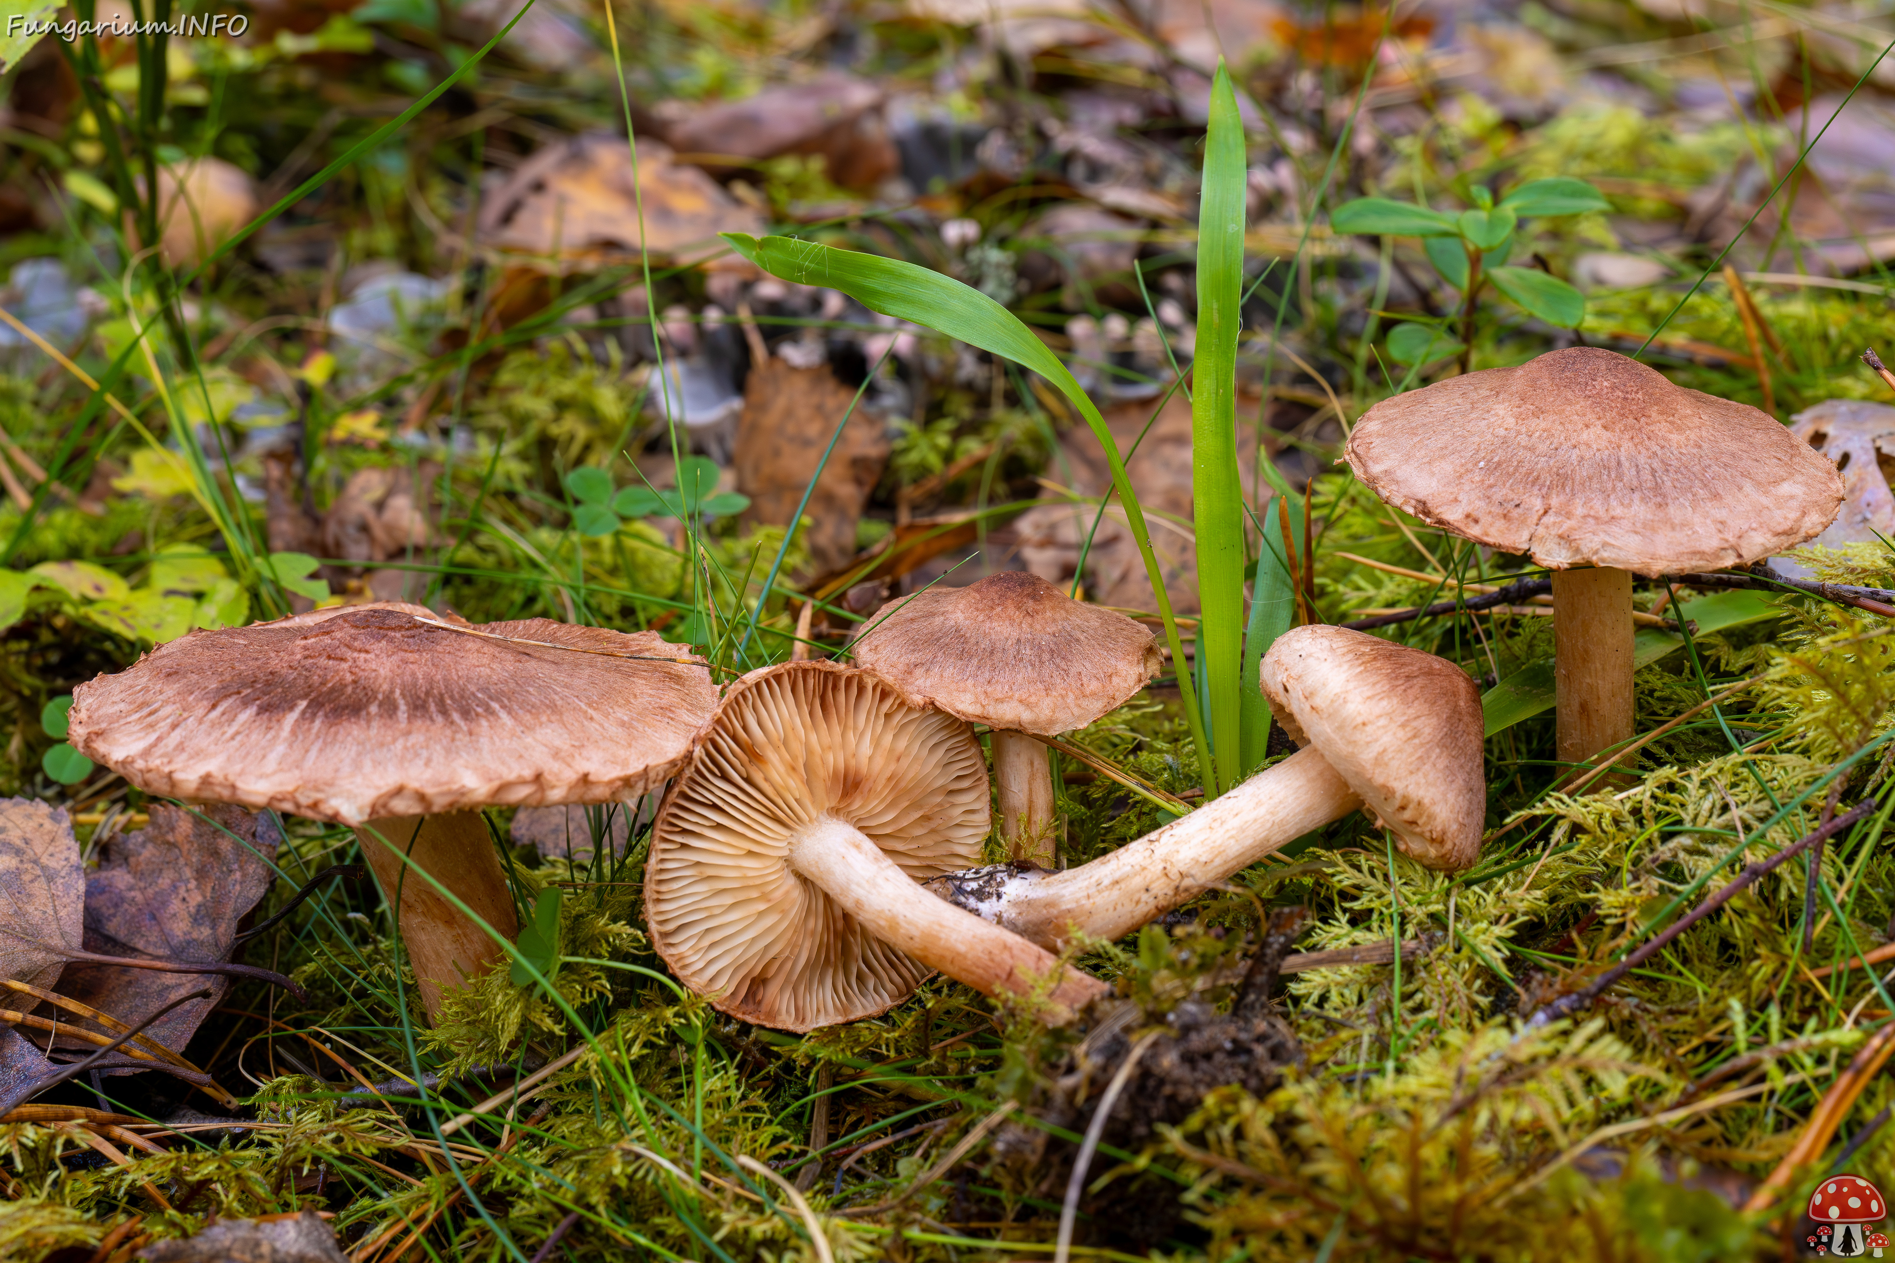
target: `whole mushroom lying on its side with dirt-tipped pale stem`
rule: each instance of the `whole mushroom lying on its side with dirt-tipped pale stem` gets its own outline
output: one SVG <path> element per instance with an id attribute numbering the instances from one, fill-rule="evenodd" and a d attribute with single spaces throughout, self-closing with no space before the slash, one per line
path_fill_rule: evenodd
<path id="1" fill-rule="evenodd" d="M 1344 627 L 1294 627 L 1262 684 L 1302 746 L 1198 810 L 1063 873 L 993 865 L 929 884 L 1048 949 L 1122 937 L 1309 829 L 1366 809 L 1433 869 L 1480 854 L 1480 693 L 1453 663 Z"/>

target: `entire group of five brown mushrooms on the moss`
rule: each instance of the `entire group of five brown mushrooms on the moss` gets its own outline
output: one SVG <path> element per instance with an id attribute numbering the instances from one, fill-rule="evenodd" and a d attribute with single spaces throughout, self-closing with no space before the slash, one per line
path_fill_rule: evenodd
<path id="1" fill-rule="evenodd" d="M 1842 502 L 1834 468 L 1766 415 L 1590 348 L 1389 400 L 1347 456 L 1387 502 L 1554 568 L 1575 761 L 1632 735 L 1633 572 L 1766 557 Z M 1035 737 L 1143 689 L 1152 634 L 1008 572 L 885 606 L 851 651 L 853 667 L 766 667 L 720 695 L 656 632 L 332 608 L 197 631 L 80 685 L 70 740 L 148 793 L 352 826 L 430 1017 L 517 932 L 487 807 L 625 803 L 669 782 L 644 879 L 658 952 L 722 1011 L 798 1032 L 883 1013 L 932 969 L 1037 994 L 1059 1021 L 1105 994 L 1061 962 L 1069 941 L 1120 937 L 1355 810 L 1431 867 L 1480 850 L 1480 695 L 1431 653 L 1323 625 L 1279 636 L 1262 687 L 1300 750 L 1052 871 Z M 987 869 L 976 723 L 1016 858 Z"/>

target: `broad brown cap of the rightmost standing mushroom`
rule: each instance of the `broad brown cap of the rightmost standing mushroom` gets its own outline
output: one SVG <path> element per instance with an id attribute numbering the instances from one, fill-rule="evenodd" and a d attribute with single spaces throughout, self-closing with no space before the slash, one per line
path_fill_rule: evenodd
<path id="1" fill-rule="evenodd" d="M 1766 413 L 1596 347 L 1383 400 L 1345 454 L 1389 504 L 1561 570 L 1745 564 L 1842 507 L 1836 468 Z"/>

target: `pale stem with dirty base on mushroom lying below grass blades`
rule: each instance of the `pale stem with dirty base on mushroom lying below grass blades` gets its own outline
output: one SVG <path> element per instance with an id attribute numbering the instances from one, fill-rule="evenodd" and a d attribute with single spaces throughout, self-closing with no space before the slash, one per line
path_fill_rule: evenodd
<path id="1" fill-rule="evenodd" d="M 1059 951 L 1074 934 L 1118 939 L 1186 903 L 1363 799 L 1313 746 L 1198 810 L 1063 873 L 1002 869 L 995 881 L 936 879 L 944 899 Z M 980 873 L 976 869 L 976 873 Z"/>

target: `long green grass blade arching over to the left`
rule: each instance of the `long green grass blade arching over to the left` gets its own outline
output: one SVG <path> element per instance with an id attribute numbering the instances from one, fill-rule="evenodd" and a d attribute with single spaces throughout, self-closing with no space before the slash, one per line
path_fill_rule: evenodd
<path id="1" fill-rule="evenodd" d="M 722 237 L 737 254 L 771 276 L 805 286 L 841 290 L 870 311 L 879 311 L 896 320 L 911 320 L 936 333 L 946 333 L 970 347 L 978 347 L 987 354 L 1002 356 L 1025 369 L 1033 369 L 1057 386 L 1059 394 L 1078 409 L 1078 415 L 1092 428 L 1093 437 L 1099 439 L 1099 447 L 1105 449 L 1105 462 L 1112 470 L 1112 489 L 1118 492 L 1120 504 L 1126 506 L 1126 523 L 1131 526 L 1131 538 L 1139 545 L 1139 557 L 1145 559 L 1145 574 L 1152 581 L 1152 600 L 1158 602 L 1158 617 L 1165 625 L 1165 646 L 1171 649 L 1171 663 L 1181 674 L 1179 693 L 1184 697 L 1184 716 L 1190 721 L 1192 740 L 1198 744 L 1198 767 L 1209 793 L 1215 782 L 1211 746 L 1205 740 L 1203 716 L 1198 714 L 1198 699 L 1182 678 L 1188 661 L 1184 657 L 1184 642 L 1179 640 L 1179 625 L 1171 614 L 1171 595 L 1165 591 L 1164 572 L 1158 568 L 1158 557 L 1152 555 L 1152 534 L 1145 528 L 1145 511 L 1139 507 L 1137 492 L 1131 490 L 1131 479 L 1126 477 L 1126 462 L 1118 454 L 1112 430 L 1105 424 L 1105 417 L 1099 415 L 1099 407 L 1073 381 L 1073 373 L 1059 364 L 1059 356 L 1048 350 L 1046 343 L 1035 337 L 1033 329 L 1021 324 L 1014 312 L 980 290 L 925 267 L 874 254 L 858 254 L 855 250 L 836 250 L 834 246 L 796 240 L 794 237 L 756 239 L 747 233 L 724 233 Z"/>

